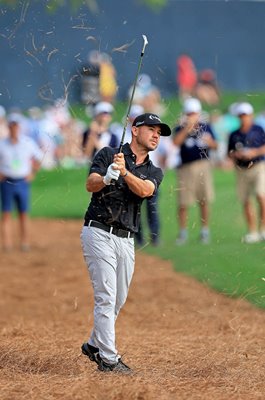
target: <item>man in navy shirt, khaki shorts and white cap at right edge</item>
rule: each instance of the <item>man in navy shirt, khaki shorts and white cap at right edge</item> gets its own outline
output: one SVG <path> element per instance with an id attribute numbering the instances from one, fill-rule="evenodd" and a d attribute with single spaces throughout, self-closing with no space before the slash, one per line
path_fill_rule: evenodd
<path id="1" fill-rule="evenodd" d="M 242 241 L 256 243 L 265 240 L 265 132 L 254 124 L 250 103 L 239 103 L 235 111 L 240 127 L 229 136 L 228 156 L 234 162 L 238 197 L 248 230 Z M 259 206 L 258 221 L 253 195 Z"/>

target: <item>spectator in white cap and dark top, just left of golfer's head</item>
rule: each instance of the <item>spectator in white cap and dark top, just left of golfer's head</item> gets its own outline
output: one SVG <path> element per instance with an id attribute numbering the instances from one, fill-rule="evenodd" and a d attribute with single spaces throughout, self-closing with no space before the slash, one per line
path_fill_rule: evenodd
<path id="1" fill-rule="evenodd" d="M 94 118 L 83 133 L 83 153 L 89 160 L 105 146 L 116 147 L 117 137 L 110 131 L 110 123 L 113 113 L 112 104 L 102 101 L 94 108 Z"/>

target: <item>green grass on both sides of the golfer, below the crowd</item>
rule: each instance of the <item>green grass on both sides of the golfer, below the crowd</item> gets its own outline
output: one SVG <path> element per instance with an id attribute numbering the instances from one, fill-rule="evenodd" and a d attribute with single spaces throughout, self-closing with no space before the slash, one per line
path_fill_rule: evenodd
<path id="1" fill-rule="evenodd" d="M 89 201 L 87 169 L 40 171 L 32 187 L 32 217 L 83 218 Z M 199 214 L 189 210 L 189 243 L 176 246 L 176 174 L 168 171 L 160 189 L 161 240 L 144 251 L 172 261 L 174 268 L 235 297 L 265 308 L 265 243 L 242 244 L 245 224 L 235 195 L 233 171 L 214 172 L 216 199 L 212 204 L 209 245 L 198 243 Z M 144 232 L 147 235 L 146 226 Z"/>

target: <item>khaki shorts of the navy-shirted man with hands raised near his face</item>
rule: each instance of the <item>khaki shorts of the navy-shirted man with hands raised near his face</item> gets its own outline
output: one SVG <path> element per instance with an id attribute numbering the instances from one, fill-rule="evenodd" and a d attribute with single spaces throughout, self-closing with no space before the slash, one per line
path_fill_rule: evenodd
<path id="1" fill-rule="evenodd" d="M 197 202 L 209 203 L 214 198 L 212 166 L 209 160 L 197 160 L 178 168 L 180 206 Z"/>

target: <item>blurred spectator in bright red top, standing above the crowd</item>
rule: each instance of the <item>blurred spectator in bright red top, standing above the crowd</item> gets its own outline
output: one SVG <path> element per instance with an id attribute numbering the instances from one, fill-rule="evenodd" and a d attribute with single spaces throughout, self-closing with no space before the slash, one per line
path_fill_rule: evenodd
<path id="1" fill-rule="evenodd" d="M 197 83 L 197 71 L 190 56 L 181 54 L 177 58 L 177 85 L 181 101 L 193 96 Z"/>

